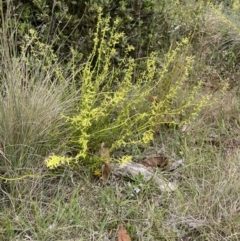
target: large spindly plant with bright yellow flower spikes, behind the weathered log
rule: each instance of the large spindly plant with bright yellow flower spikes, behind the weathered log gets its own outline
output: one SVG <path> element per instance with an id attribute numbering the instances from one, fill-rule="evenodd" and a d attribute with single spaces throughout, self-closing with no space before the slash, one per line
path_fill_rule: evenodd
<path id="1" fill-rule="evenodd" d="M 93 51 L 80 71 L 81 100 L 77 114 L 64 117 L 72 129 L 69 145 L 76 148 L 77 154 L 72 159 L 51 156 L 46 160 L 49 168 L 74 161 L 88 163 L 102 142 L 111 152 L 131 145 L 147 145 L 158 125 L 189 123 L 210 99 L 208 95 L 195 99 L 201 82 L 192 89 L 186 88 L 194 62 L 188 54 L 188 38 L 169 51 L 161 68 L 158 55 L 152 53 L 146 58 L 145 70 L 135 75 L 136 62 L 129 57 L 132 46 L 113 65 L 124 33 L 117 30 L 118 20 L 113 28 L 109 21 L 102 19 L 99 11 Z M 120 162 L 130 160 L 132 157 L 127 155 Z"/>

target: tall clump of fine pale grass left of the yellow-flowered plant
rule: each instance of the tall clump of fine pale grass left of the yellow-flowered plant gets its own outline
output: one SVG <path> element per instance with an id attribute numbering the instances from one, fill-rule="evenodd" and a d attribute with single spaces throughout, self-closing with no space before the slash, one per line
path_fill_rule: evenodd
<path id="1" fill-rule="evenodd" d="M 7 30 L 2 39 L 5 34 Z M 43 167 L 47 153 L 61 151 L 68 131 L 61 115 L 72 112 L 78 93 L 70 91 L 71 81 L 63 70 L 54 68 L 51 49 L 37 45 L 34 32 L 25 40 L 18 55 L 14 41 L 15 46 L 1 42 L 0 143 L 2 171 L 8 177 L 16 168 Z"/>

